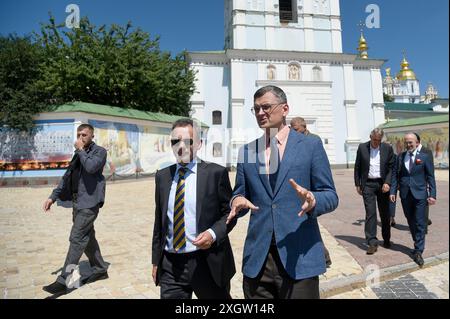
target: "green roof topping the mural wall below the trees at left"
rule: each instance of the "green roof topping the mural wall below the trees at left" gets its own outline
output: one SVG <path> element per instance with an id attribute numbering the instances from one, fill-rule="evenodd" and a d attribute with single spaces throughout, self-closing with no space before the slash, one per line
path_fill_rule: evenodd
<path id="1" fill-rule="evenodd" d="M 100 115 L 109 115 L 115 117 L 126 117 L 138 120 L 145 121 L 153 121 L 153 122 L 162 122 L 162 123 L 173 123 L 176 120 L 181 118 L 185 118 L 185 116 L 178 115 L 169 115 L 164 113 L 153 113 L 140 111 L 129 108 L 121 108 L 117 106 L 109 106 L 102 104 L 92 104 L 85 102 L 70 102 L 63 105 L 58 106 L 52 112 L 61 113 L 61 112 L 83 112 L 83 113 L 92 113 L 92 114 L 100 114 Z M 208 127 L 205 123 L 201 122 L 202 127 Z"/>

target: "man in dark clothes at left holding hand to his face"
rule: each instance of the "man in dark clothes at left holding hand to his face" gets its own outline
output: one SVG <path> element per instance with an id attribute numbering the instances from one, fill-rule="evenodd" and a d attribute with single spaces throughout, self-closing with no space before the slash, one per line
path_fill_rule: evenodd
<path id="1" fill-rule="evenodd" d="M 108 266 L 100 253 L 94 230 L 94 221 L 105 202 L 105 177 L 102 172 L 106 163 L 106 150 L 96 145 L 93 138 L 94 128 L 91 125 L 82 124 L 78 127 L 76 150 L 69 168 L 44 203 L 45 212 L 56 201 L 58 204 L 71 201 L 73 206 L 70 246 L 61 275 L 53 284 L 43 287 L 51 294 L 64 293 L 68 288 L 75 287 L 73 283 L 68 283 L 83 253 L 93 268 L 93 274 L 84 278 L 83 283 L 108 278 Z"/>

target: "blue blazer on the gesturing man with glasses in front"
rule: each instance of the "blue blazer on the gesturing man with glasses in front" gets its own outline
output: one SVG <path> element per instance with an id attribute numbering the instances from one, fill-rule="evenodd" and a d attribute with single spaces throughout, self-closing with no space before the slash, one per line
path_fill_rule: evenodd
<path id="1" fill-rule="evenodd" d="M 280 163 L 275 191 L 265 173 L 264 136 L 239 151 L 233 195 L 242 195 L 259 207 L 251 212 L 244 246 L 242 271 L 255 278 L 260 272 L 275 232 L 278 252 L 293 279 L 310 278 L 326 271 L 317 216 L 332 212 L 338 196 L 330 164 L 318 137 L 291 130 Z M 298 216 L 302 202 L 289 179 L 313 192 L 315 208 Z M 241 211 L 238 217 L 245 215 Z"/>

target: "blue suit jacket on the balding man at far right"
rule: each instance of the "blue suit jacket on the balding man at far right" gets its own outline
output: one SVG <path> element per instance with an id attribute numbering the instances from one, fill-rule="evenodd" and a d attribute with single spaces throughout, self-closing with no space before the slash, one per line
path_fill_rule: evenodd
<path id="1" fill-rule="evenodd" d="M 406 169 L 404 161 L 407 152 L 397 158 L 396 173 L 392 176 L 391 195 L 405 199 L 409 191 L 415 199 L 436 198 L 436 181 L 434 179 L 433 159 L 429 154 L 418 152 L 411 173 Z"/>

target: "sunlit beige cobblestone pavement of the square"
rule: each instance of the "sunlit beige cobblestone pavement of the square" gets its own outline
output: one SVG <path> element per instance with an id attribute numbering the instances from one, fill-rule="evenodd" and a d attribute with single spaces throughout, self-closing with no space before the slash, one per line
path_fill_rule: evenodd
<path id="1" fill-rule="evenodd" d="M 347 171 L 342 172 L 341 177 L 347 178 Z M 340 183 L 342 181 L 336 179 L 338 189 Z M 0 188 L 0 291 L 3 292 L 4 298 L 49 297 L 42 291 L 42 286 L 53 282 L 60 271 L 67 253 L 71 228 L 70 210 L 54 206 L 50 213 L 42 211 L 42 204 L 51 189 L 52 187 Z M 448 182 L 446 189 L 448 197 Z M 107 185 L 106 203 L 100 210 L 95 227 L 102 254 L 110 263 L 109 279 L 82 286 L 61 298 L 159 298 L 159 288 L 155 287 L 151 279 L 153 194 L 153 179 Z M 340 196 L 342 203 L 345 201 L 346 192 L 340 193 Z M 349 212 L 344 209 L 326 217 L 344 216 L 347 213 Z M 348 220 L 352 222 L 351 219 Z M 322 217 L 319 221 L 322 222 Z M 322 223 L 322 226 L 325 226 L 321 227 L 322 237 L 330 251 L 333 264 L 327 273 L 321 276 L 321 282 L 361 274 L 363 267 L 358 256 L 355 257 L 355 254 L 343 245 L 342 240 L 335 239 L 333 227 L 327 227 L 325 223 Z M 230 234 L 238 270 L 231 283 L 233 298 L 243 297 L 240 269 L 247 227 L 248 217 L 244 217 Z M 447 236 L 442 238 L 446 238 L 448 251 L 448 213 Z M 396 253 L 398 254 L 391 252 L 392 255 Z M 434 293 L 438 298 L 448 298 L 448 263 L 447 272 L 442 267 L 437 267 L 436 269 L 440 269 L 438 275 L 432 270 L 435 267 L 430 267 L 413 276 L 423 283 L 430 293 Z M 81 271 L 86 272 L 88 268 L 87 259 L 82 258 Z M 431 273 L 422 275 L 426 271 Z M 352 298 L 377 297 L 375 292 L 369 289 L 364 292 L 367 296 L 357 295 L 354 291 L 348 293 L 353 293 Z M 337 296 L 340 295 L 333 298 Z M 342 295 L 342 298 L 347 298 L 347 295 Z"/>

